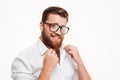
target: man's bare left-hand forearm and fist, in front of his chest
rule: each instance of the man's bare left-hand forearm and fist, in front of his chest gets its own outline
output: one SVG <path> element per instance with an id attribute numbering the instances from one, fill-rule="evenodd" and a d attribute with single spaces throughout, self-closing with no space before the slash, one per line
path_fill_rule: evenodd
<path id="1" fill-rule="evenodd" d="M 58 63 L 58 57 L 54 50 L 49 49 L 44 57 L 43 68 L 38 80 L 49 80 L 52 70 Z"/>

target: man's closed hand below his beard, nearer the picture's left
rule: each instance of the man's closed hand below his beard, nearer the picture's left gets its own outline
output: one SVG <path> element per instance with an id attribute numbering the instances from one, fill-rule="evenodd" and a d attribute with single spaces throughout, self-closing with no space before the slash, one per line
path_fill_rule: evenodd
<path id="1" fill-rule="evenodd" d="M 43 68 L 51 72 L 55 68 L 57 63 L 58 63 L 57 54 L 53 49 L 48 49 L 44 57 Z"/>

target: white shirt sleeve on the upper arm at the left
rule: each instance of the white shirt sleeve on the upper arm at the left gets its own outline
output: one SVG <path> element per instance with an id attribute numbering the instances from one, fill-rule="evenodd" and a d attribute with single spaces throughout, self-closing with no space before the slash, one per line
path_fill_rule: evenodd
<path id="1" fill-rule="evenodd" d="M 16 58 L 13 61 L 11 71 L 13 80 L 35 80 L 32 75 L 32 67 L 24 58 Z"/>

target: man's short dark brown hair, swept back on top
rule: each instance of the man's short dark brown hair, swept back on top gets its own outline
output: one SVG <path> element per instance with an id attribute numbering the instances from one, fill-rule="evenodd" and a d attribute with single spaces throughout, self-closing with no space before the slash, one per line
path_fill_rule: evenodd
<path id="1" fill-rule="evenodd" d="M 61 7 L 57 7 L 57 6 L 51 6 L 48 7 L 44 10 L 43 14 L 42 14 L 42 22 L 45 23 L 49 14 L 56 14 L 59 15 L 63 18 L 66 18 L 68 21 L 68 13 L 65 9 L 61 8 Z"/>

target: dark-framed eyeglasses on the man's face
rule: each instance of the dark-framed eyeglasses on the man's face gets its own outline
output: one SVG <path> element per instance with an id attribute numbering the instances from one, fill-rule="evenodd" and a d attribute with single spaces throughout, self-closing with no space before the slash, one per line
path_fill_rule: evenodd
<path id="1" fill-rule="evenodd" d="M 51 32 L 57 32 L 60 29 L 61 34 L 66 34 L 69 31 L 69 27 L 59 26 L 57 23 L 45 23 L 49 26 Z"/>

